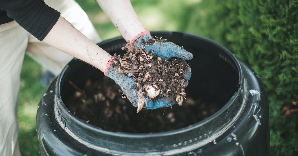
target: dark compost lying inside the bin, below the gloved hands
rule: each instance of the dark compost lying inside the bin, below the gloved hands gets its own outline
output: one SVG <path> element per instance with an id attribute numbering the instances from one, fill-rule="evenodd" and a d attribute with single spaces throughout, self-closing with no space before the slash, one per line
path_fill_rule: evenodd
<path id="1" fill-rule="evenodd" d="M 111 132 L 164 132 L 197 123 L 220 107 L 199 97 L 187 97 L 181 106 L 142 109 L 135 112 L 119 86 L 110 78 L 86 81 L 66 102 L 67 108 L 80 120 Z M 187 89 L 186 89 L 187 92 Z"/>

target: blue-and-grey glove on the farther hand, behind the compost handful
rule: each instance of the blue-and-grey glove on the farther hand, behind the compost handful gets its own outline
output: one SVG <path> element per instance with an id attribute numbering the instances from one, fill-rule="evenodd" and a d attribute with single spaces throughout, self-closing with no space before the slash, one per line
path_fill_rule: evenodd
<path id="1" fill-rule="evenodd" d="M 145 48 L 148 52 L 150 50 L 154 50 L 153 55 L 156 55 L 161 58 L 170 59 L 170 58 L 181 58 L 183 60 L 191 60 L 193 58 L 193 54 L 184 50 L 182 47 L 174 44 L 173 42 L 165 42 L 165 41 L 156 41 L 153 44 L 153 37 L 150 35 L 149 31 L 143 32 L 145 34 L 139 36 L 137 39 L 133 39 L 132 43 L 135 48 Z M 141 33 L 142 34 L 142 33 Z M 187 70 L 185 70 L 182 74 L 185 82 L 184 88 L 188 86 L 188 80 L 191 77 L 191 69 L 188 66 Z"/>

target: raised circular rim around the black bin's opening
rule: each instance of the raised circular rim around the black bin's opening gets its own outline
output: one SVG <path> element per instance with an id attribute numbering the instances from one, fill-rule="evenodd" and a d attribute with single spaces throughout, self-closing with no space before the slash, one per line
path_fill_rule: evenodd
<path id="1" fill-rule="evenodd" d="M 56 101 L 57 101 L 57 106 L 60 107 L 60 108 L 62 107 L 62 109 L 60 109 L 60 110 L 63 111 L 64 114 L 69 115 L 68 116 L 69 118 L 71 118 L 72 120 L 74 120 L 77 123 L 81 124 L 83 127 L 88 128 L 92 131 L 97 131 L 101 134 L 111 135 L 111 136 L 115 136 L 115 137 L 145 138 L 145 137 L 162 137 L 162 136 L 168 136 L 168 135 L 175 135 L 175 134 L 191 131 L 193 129 L 197 129 L 198 127 L 204 125 L 205 123 L 208 123 L 209 121 L 214 119 L 216 116 L 220 115 L 221 113 L 224 113 L 224 111 L 226 109 L 229 109 L 229 106 L 232 105 L 233 102 L 237 99 L 237 97 L 240 95 L 241 89 L 243 88 L 242 68 L 241 68 L 237 58 L 229 50 L 227 50 L 225 47 L 223 47 L 220 44 L 218 44 L 214 41 L 211 41 L 207 38 L 203 38 L 201 36 L 193 35 L 193 34 L 189 34 L 189 33 L 169 32 L 169 31 L 153 31 L 151 33 L 152 34 L 156 34 L 156 33 L 163 33 L 163 34 L 164 33 L 167 33 L 167 34 L 181 33 L 182 36 L 189 36 L 189 37 L 192 37 L 192 38 L 197 38 L 201 41 L 205 41 L 205 42 L 208 42 L 209 44 L 213 44 L 214 46 L 217 46 L 219 49 L 223 50 L 223 52 L 225 54 L 227 54 L 230 57 L 230 59 L 232 59 L 234 61 L 233 63 L 235 63 L 235 65 L 237 67 L 237 69 L 235 69 L 235 70 L 238 72 L 238 90 L 234 93 L 234 95 L 232 95 L 232 97 L 229 99 L 229 101 L 226 102 L 226 104 L 224 104 L 224 106 L 222 106 L 217 112 L 215 112 L 214 114 L 212 114 L 208 118 L 206 118 L 202 121 L 199 121 L 198 123 L 187 126 L 187 127 L 183 127 L 183 128 L 179 128 L 179 129 L 175 129 L 175 130 L 171 130 L 171 131 L 150 132 L 150 133 L 110 132 L 110 131 L 106 131 L 106 130 L 101 129 L 100 127 L 96 127 L 96 126 L 93 126 L 91 124 L 80 121 L 77 117 L 75 117 L 75 115 L 73 115 L 69 111 L 69 109 L 67 109 L 67 107 L 63 103 L 62 98 L 61 98 L 61 88 L 62 88 L 61 81 L 63 81 L 63 78 L 67 74 L 66 72 L 68 72 L 68 70 L 69 70 L 69 65 L 66 65 L 63 68 L 63 70 L 61 71 L 61 73 L 58 75 L 58 79 L 57 79 L 57 82 L 56 82 L 56 95 L 55 95 L 55 98 L 56 98 Z M 111 38 L 111 39 L 108 39 L 106 41 L 100 42 L 97 45 L 100 46 L 100 45 L 105 44 L 107 42 L 111 42 L 111 41 L 115 41 L 115 40 L 119 40 L 119 39 L 123 39 L 123 37 L 119 36 L 119 37 Z"/>

